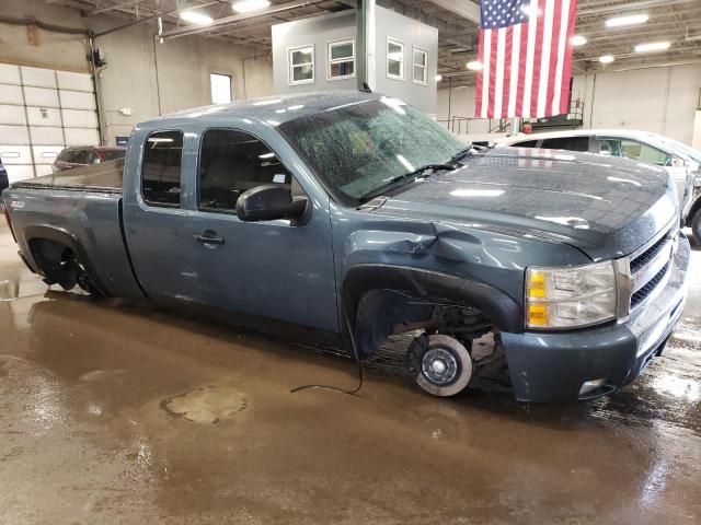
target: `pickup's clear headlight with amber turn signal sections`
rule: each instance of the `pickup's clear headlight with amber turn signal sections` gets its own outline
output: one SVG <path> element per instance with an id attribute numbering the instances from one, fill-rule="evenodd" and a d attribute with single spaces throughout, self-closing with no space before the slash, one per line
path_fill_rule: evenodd
<path id="1" fill-rule="evenodd" d="M 595 325 L 616 317 L 613 262 L 526 270 L 526 326 L 556 329 Z"/>

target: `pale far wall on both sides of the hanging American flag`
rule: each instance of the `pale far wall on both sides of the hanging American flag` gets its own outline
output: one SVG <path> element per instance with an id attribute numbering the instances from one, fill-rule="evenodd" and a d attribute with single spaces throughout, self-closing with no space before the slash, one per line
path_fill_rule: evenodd
<path id="1" fill-rule="evenodd" d="M 699 90 L 701 65 L 689 65 L 576 75 L 572 92 L 585 102 L 586 128 L 642 129 L 691 144 Z M 474 88 L 453 89 L 450 106 L 451 115 L 474 116 Z M 448 118 L 448 90 L 438 91 L 438 115 Z"/>

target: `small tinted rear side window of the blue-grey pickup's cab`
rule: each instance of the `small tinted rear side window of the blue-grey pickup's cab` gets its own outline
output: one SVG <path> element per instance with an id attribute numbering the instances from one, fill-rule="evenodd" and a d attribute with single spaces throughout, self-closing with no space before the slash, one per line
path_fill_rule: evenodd
<path id="1" fill-rule="evenodd" d="M 180 206 L 183 132 L 158 131 L 146 139 L 141 196 L 150 206 Z"/>

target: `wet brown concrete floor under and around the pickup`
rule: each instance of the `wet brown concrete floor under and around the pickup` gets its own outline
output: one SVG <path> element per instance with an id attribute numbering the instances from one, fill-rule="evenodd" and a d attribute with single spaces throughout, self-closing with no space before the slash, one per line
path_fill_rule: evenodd
<path id="1" fill-rule="evenodd" d="M 435 399 L 341 358 L 48 292 L 0 229 L 0 522 L 701 523 L 701 252 L 665 358 L 612 397 Z"/>

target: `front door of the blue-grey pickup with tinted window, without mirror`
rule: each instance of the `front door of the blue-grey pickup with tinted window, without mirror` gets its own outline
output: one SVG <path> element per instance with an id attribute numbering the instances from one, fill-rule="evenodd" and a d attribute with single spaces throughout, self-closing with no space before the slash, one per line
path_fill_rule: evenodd
<path id="1" fill-rule="evenodd" d="M 329 197 L 303 178 L 310 175 L 300 173 L 289 144 L 269 128 L 260 131 L 269 135 L 278 151 L 244 129 L 207 129 L 199 136 L 196 212 L 187 222 L 187 243 L 197 253 L 202 300 L 337 332 Z M 307 196 L 309 219 L 303 224 L 240 221 L 234 211 L 239 196 L 263 184 Z"/>

